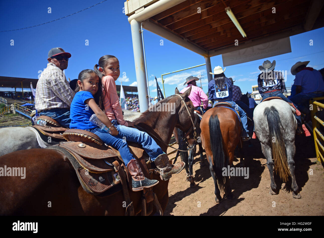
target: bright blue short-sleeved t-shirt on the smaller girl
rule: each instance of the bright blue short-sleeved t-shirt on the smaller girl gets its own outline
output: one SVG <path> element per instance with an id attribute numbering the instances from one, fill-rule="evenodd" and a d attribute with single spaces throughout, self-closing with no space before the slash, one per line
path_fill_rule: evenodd
<path id="1" fill-rule="evenodd" d="M 75 93 L 70 108 L 71 129 L 87 130 L 98 127 L 89 121 L 91 115 L 94 114 L 89 105 L 86 105 L 85 103 L 89 98 L 93 98 L 91 92 L 79 91 Z"/>

